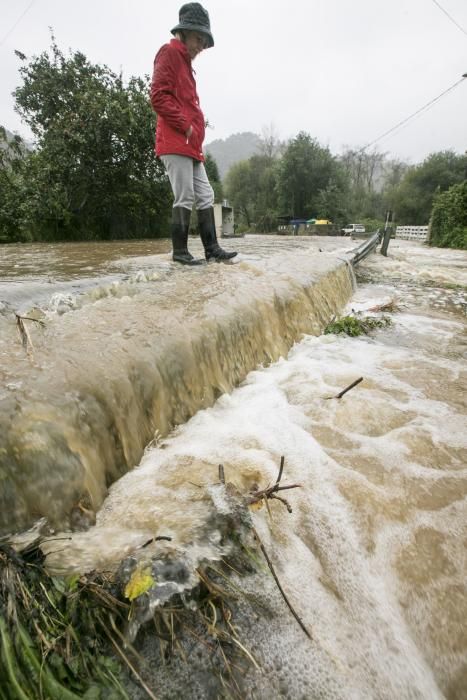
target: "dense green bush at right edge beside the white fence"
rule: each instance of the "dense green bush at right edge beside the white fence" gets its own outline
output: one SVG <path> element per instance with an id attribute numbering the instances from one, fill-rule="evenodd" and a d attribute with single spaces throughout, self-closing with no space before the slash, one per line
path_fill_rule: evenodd
<path id="1" fill-rule="evenodd" d="M 435 197 L 430 245 L 467 250 L 467 180 Z"/>

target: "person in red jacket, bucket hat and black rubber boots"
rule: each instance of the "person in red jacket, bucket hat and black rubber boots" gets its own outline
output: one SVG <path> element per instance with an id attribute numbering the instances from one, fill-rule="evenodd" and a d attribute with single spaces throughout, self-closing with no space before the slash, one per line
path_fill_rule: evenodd
<path id="1" fill-rule="evenodd" d="M 156 155 L 163 162 L 174 195 L 172 209 L 173 260 L 200 265 L 188 251 L 188 231 L 193 204 L 206 260 L 224 262 L 237 255 L 217 242 L 214 191 L 204 168 L 204 115 L 193 76 L 192 62 L 214 46 L 209 14 L 198 2 L 180 8 L 174 38 L 162 46 L 154 60 L 151 104 L 157 113 Z"/>

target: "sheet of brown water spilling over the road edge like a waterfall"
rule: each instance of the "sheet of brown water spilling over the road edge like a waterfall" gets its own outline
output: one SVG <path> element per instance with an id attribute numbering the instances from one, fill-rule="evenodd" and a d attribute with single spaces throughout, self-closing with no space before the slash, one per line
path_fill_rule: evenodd
<path id="1" fill-rule="evenodd" d="M 235 264 L 197 268 L 135 255 L 136 244 L 123 258 L 121 244 L 7 248 L 0 531 L 92 514 L 155 434 L 285 355 L 302 333 L 320 333 L 351 294 L 348 240 L 322 240 L 321 251 L 310 239 L 236 243 Z M 15 259 L 28 261 L 23 272 Z M 83 278 L 89 267 L 95 275 Z M 13 311 L 43 323 L 24 321 L 27 352 Z"/>

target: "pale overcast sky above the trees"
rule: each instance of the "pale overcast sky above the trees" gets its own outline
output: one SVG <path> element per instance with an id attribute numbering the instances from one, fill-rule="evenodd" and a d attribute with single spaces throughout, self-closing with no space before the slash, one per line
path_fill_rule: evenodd
<path id="1" fill-rule="evenodd" d="M 206 0 L 215 46 L 195 62 L 206 141 L 274 124 L 308 131 L 334 153 L 362 147 L 467 73 L 467 2 Z M 31 0 L 0 0 L 0 41 Z M 14 49 L 79 49 L 124 76 L 152 72 L 177 24 L 178 0 L 33 0 L 0 46 L 0 124 L 28 136 L 13 110 Z M 467 150 L 467 79 L 377 147 L 410 162 Z"/>

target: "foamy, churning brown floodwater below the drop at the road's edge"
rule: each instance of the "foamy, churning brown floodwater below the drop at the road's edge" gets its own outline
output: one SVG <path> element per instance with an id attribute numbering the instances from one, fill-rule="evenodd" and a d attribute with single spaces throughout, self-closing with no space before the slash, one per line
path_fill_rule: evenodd
<path id="1" fill-rule="evenodd" d="M 284 480 L 302 484 L 288 495 L 293 512 L 273 502 L 272 518 L 253 517 L 313 639 L 263 577 L 249 592 L 269 613 L 240 623 L 262 669 L 247 674 L 248 697 L 467 698 L 467 256 L 396 241 L 389 252 L 360 266 L 348 309 L 393 301 L 391 326 L 353 339 L 305 335 L 156 438 L 113 485 L 96 526 L 49 546 L 62 571 L 113 568 L 157 535 L 216 556 L 215 532 L 197 541 L 200 486 L 217 481 L 219 463 L 243 492 L 273 483 L 284 455 Z M 299 306 L 313 304 L 301 296 Z M 145 654 L 158 697 L 216 697 L 196 658 L 180 681 Z"/>

